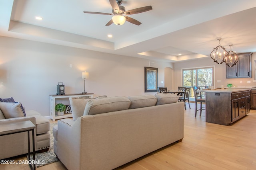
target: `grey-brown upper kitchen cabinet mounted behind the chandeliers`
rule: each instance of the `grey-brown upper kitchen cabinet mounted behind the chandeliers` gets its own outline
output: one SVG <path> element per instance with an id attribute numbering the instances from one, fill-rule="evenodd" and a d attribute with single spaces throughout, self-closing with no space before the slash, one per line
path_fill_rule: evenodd
<path id="1" fill-rule="evenodd" d="M 252 77 L 252 53 L 240 53 L 236 65 L 226 66 L 226 78 L 251 78 Z"/>

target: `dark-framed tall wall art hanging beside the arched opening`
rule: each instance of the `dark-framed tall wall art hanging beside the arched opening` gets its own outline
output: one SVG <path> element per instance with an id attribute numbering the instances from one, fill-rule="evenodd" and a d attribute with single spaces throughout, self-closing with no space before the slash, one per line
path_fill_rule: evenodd
<path id="1" fill-rule="evenodd" d="M 145 92 L 157 92 L 158 68 L 145 67 Z"/>

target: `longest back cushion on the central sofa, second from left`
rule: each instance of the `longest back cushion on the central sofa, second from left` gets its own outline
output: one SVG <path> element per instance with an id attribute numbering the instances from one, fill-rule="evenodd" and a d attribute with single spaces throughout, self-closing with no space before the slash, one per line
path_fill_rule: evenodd
<path id="1" fill-rule="evenodd" d="M 126 110 L 130 107 L 130 103 L 130 100 L 123 96 L 89 100 L 85 106 L 84 115 Z"/>

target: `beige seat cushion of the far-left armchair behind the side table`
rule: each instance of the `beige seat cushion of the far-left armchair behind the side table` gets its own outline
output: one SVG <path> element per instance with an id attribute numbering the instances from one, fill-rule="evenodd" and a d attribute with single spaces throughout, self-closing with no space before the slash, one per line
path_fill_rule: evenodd
<path id="1" fill-rule="evenodd" d="M 50 131 L 50 121 L 41 115 L 33 115 L 36 118 L 36 134 L 42 134 Z"/>

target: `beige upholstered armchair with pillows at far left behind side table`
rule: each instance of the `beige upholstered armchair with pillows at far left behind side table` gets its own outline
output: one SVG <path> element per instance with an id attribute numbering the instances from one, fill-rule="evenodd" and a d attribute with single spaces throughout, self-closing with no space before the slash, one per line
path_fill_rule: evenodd
<path id="1" fill-rule="evenodd" d="M 0 124 L 15 123 L 30 120 L 36 125 L 35 150 L 47 151 L 50 147 L 50 121 L 40 115 L 37 111 L 26 111 L 26 115 L 21 110 L 19 102 L 0 102 Z M 30 151 L 32 151 L 32 132 L 30 132 Z M 12 135 L 0 136 L 0 159 L 18 156 L 28 153 L 27 132 Z"/>

